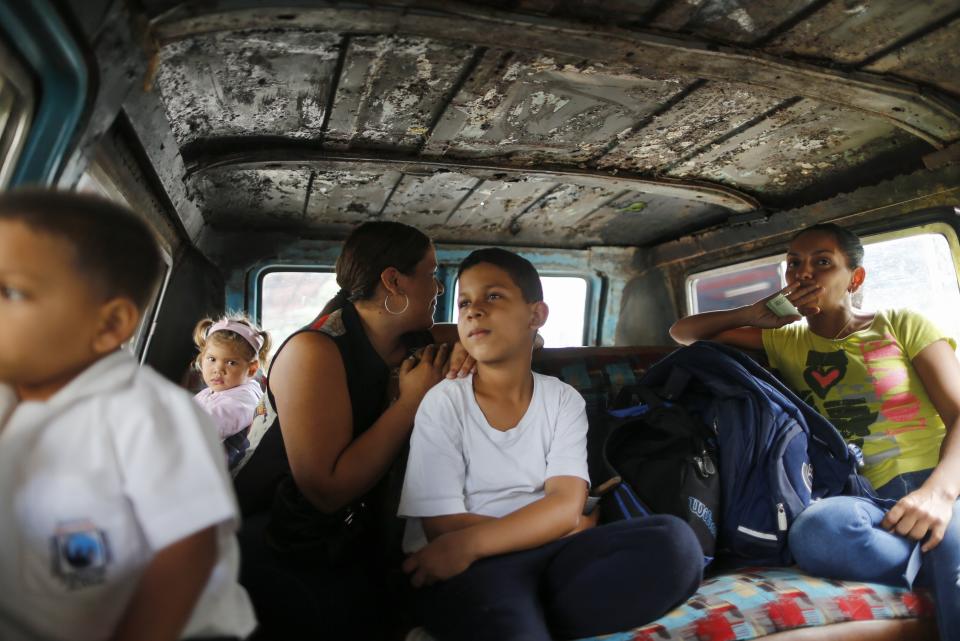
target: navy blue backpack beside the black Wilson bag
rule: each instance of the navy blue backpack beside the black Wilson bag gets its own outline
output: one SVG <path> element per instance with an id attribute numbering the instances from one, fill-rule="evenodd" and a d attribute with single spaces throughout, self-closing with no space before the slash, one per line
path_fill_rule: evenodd
<path id="1" fill-rule="evenodd" d="M 811 501 L 870 496 L 837 429 L 742 352 L 707 341 L 650 367 L 641 382 L 689 375 L 674 399 L 717 433 L 722 509 L 718 552 L 735 563 L 790 565 L 787 533 Z"/>

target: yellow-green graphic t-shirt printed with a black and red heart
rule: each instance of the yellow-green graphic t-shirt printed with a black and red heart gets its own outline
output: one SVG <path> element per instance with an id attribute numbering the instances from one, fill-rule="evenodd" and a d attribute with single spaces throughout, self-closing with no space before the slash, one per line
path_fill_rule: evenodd
<path id="1" fill-rule="evenodd" d="M 771 367 L 863 450 L 864 473 L 877 488 L 940 460 L 946 429 L 911 361 L 941 339 L 956 349 L 908 310 L 877 312 L 869 327 L 841 340 L 817 336 L 804 322 L 763 330 Z"/>

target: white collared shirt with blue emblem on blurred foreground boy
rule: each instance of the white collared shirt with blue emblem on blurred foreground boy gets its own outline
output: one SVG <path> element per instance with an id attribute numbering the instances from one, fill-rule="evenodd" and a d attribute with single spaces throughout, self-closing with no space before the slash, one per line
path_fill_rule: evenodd
<path id="1" fill-rule="evenodd" d="M 210 419 L 127 352 L 46 401 L 0 386 L 0 514 L 3 641 L 108 639 L 154 555 L 210 526 L 217 562 L 182 636 L 254 628 Z"/>

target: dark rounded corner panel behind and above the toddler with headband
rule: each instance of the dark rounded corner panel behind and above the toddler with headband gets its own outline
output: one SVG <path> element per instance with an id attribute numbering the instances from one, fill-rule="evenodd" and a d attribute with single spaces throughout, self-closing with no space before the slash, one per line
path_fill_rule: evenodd
<path id="1" fill-rule="evenodd" d="M 194 248 L 180 256 L 167 284 L 145 362 L 179 383 L 195 355 L 193 328 L 224 309 L 220 272 Z"/>

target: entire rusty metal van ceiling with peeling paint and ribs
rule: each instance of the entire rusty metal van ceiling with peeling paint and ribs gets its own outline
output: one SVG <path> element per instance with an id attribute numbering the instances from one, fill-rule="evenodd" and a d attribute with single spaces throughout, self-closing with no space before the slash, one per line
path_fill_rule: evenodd
<path id="1" fill-rule="evenodd" d="M 221 229 L 649 245 L 960 139 L 960 0 L 142 5 Z"/>

